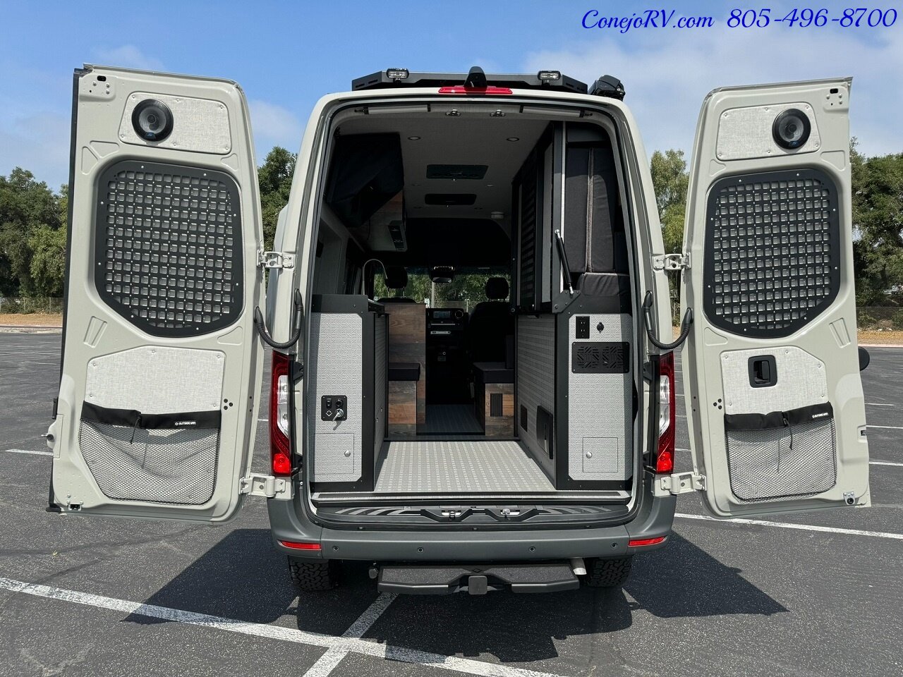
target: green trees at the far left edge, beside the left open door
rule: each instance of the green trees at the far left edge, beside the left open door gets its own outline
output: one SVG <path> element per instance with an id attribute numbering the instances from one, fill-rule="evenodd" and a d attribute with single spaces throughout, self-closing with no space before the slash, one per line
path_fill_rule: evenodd
<path id="1" fill-rule="evenodd" d="M 53 271 L 65 260 L 65 217 L 61 198 L 37 181 L 32 172 L 16 167 L 9 176 L 0 176 L 0 294 L 5 296 L 60 295 L 61 284 L 52 283 Z M 60 232 L 62 231 L 62 232 Z M 56 242 L 62 240 L 62 248 Z M 41 260 L 33 277 L 34 246 L 41 248 Z M 58 256 L 59 261 L 52 261 Z M 58 290 L 58 291 L 54 291 Z"/>

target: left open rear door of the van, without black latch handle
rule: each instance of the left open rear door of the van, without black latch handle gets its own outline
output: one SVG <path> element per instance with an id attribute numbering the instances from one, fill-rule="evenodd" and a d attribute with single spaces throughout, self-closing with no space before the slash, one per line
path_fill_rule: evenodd
<path id="1" fill-rule="evenodd" d="M 51 503 L 226 520 L 263 366 L 245 97 L 225 80 L 86 66 L 73 99 Z"/>

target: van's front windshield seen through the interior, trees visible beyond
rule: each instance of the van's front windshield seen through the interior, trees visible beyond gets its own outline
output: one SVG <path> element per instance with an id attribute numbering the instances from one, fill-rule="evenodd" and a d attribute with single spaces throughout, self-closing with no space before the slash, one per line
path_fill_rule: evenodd
<path id="1" fill-rule="evenodd" d="M 374 298 L 405 296 L 427 308 L 462 308 L 472 311 L 477 303 L 489 301 L 486 297 L 486 281 L 490 277 L 503 277 L 510 285 L 511 274 L 503 267 L 461 269 L 455 272 L 451 283 L 433 283 L 426 268 L 408 268 L 405 289 L 388 289 L 386 276 L 378 271 L 374 276 Z"/>

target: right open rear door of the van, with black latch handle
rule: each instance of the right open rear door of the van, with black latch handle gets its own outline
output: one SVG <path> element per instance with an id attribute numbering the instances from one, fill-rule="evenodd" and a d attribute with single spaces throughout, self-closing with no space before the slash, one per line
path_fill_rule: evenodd
<path id="1" fill-rule="evenodd" d="M 852 267 L 850 79 L 725 88 L 691 168 L 684 393 L 717 516 L 869 505 Z M 699 477 L 702 476 L 702 477 Z"/>

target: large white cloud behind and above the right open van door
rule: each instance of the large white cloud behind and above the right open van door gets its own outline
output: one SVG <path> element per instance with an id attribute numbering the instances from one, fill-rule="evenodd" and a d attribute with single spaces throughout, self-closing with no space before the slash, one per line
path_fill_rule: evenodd
<path id="1" fill-rule="evenodd" d="M 852 75 L 851 133 L 861 151 L 903 151 L 900 33 L 861 42 L 851 32 L 790 30 L 650 29 L 628 40 L 600 29 L 596 42 L 530 54 L 525 70 L 554 68 L 590 83 L 603 73 L 618 77 L 647 152 L 680 148 L 687 155 L 703 97 L 713 88 Z"/>

